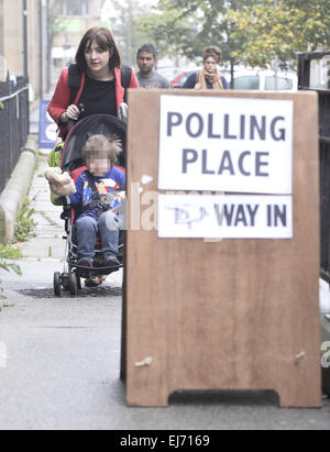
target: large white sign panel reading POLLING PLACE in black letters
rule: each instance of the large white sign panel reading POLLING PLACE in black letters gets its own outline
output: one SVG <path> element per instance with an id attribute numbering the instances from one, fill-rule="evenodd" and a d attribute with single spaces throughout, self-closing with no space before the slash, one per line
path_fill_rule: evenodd
<path id="1" fill-rule="evenodd" d="M 160 189 L 292 194 L 292 100 L 161 97 Z"/>

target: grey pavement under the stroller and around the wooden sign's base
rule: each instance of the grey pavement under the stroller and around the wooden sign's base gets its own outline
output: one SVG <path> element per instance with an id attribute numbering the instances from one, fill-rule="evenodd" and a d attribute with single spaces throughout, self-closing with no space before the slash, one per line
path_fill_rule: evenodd
<path id="1" fill-rule="evenodd" d="M 62 209 L 48 201 L 42 157 L 30 198 L 37 236 L 22 246 L 23 276 L 1 272 L 0 430 L 330 429 L 321 409 L 279 409 L 271 392 L 177 392 L 167 408 L 129 408 L 120 373 L 122 273 L 99 290 L 55 298 L 62 271 Z M 322 305 L 329 287 L 321 285 Z"/>

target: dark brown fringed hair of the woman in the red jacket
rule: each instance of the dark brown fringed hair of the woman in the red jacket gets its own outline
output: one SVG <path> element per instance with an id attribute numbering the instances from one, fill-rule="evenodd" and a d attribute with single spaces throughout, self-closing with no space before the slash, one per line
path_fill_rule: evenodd
<path id="1" fill-rule="evenodd" d="M 111 70 L 120 66 L 120 54 L 110 30 L 103 26 L 95 26 L 85 33 L 76 53 L 76 63 L 81 71 L 87 70 L 85 51 L 90 47 L 92 41 L 96 41 L 100 48 L 113 52 L 109 59 L 109 68 Z"/>

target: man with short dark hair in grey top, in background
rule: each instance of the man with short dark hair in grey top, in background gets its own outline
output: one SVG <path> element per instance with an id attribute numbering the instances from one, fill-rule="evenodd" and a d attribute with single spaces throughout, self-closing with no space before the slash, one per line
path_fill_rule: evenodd
<path id="1" fill-rule="evenodd" d="M 136 62 L 140 69 L 136 77 L 141 88 L 170 88 L 167 78 L 154 70 L 157 63 L 157 51 L 152 44 L 144 44 L 139 48 Z"/>

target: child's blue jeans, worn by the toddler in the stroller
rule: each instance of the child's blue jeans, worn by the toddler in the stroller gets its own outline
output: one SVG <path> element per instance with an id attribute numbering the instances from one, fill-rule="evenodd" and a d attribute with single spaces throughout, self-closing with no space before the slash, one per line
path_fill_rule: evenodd
<path id="1" fill-rule="evenodd" d="M 107 261 L 118 255 L 119 229 L 123 224 L 123 216 L 108 210 L 99 219 L 80 217 L 76 221 L 78 239 L 78 257 L 92 262 L 97 234 L 100 233 L 101 246 Z"/>

